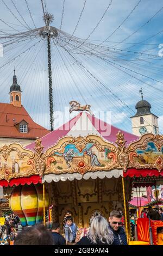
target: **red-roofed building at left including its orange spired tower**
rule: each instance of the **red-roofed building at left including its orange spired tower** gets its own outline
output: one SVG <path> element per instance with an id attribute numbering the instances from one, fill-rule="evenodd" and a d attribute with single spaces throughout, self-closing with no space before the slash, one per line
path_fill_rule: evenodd
<path id="1" fill-rule="evenodd" d="M 22 91 L 15 70 L 9 94 L 10 103 L 0 103 L 0 147 L 15 142 L 26 146 L 50 132 L 36 124 L 22 106 Z"/>

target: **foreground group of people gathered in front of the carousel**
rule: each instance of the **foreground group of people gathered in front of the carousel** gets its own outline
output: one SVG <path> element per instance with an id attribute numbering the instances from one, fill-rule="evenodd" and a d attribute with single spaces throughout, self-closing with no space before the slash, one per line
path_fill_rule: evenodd
<path id="1" fill-rule="evenodd" d="M 66 216 L 64 224 L 64 236 L 57 222 L 52 223 L 51 231 L 42 224 L 25 228 L 16 236 L 14 245 L 127 245 L 119 211 L 112 211 L 108 220 L 101 215 L 93 218 L 87 235 L 80 240 L 71 215 Z"/>

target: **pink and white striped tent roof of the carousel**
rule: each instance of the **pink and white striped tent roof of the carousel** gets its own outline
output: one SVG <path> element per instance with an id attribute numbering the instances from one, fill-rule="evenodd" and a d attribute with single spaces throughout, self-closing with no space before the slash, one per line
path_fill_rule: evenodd
<path id="1" fill-rule="evenodd" d="M 127 144 L 139 138 L 129 132 L 120 130 L 115 126 L 107 124 L 93 115 L 86 112 L 81 112 L 64 125 L 61 125 L 58 129 L 43 136 L 41 141 L 44 147 L 43 151 L 51 148 L 60 138 L 65 136 L 85 137 L 87 135 L 98 135 L 106 141 L 115 143 L 118 131 L 121 131 L 124 134 L 124 139 L 126 139 Z M 26 146 L 27 149 L 31 150 L 34 147 L 35 142 Z"/>

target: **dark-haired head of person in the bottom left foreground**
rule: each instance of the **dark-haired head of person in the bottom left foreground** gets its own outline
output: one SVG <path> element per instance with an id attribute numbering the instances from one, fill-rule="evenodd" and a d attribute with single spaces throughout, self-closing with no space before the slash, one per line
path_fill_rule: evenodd
<path id="1" fill-rule="evenodd" d="M 52 233 L 43 224 L 36 224 L 22 229 L 14 245 L 54 245 L 54 240 Z"/>

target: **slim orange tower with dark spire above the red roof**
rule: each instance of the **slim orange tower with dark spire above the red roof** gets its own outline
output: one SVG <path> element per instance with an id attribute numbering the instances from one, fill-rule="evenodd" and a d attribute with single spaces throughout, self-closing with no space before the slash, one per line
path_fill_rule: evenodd
<path id="1" fill-rule="evenodd" d="M 15 69 L 14 69 L 14 76 L 13 76 L 13 83 L 10 87 L 10 104 L 14 105 L 14 107 L 21 107 L 21 88 L 17 84 L 17 77 L 15 75 Z"/>

